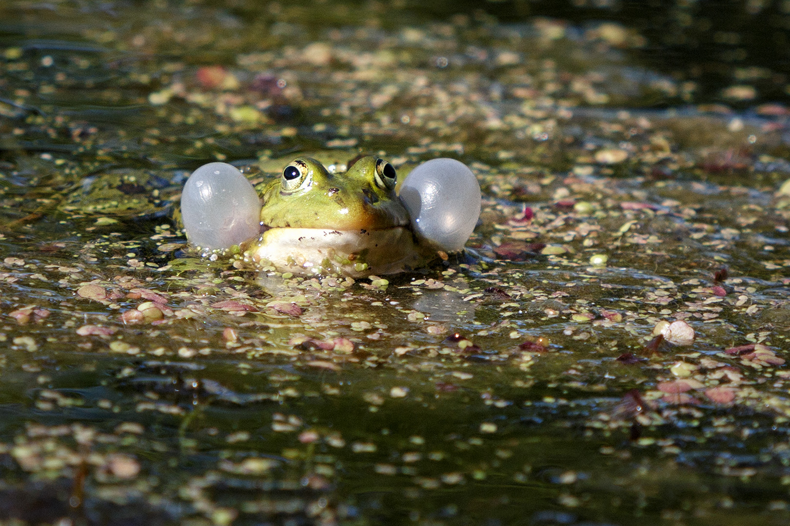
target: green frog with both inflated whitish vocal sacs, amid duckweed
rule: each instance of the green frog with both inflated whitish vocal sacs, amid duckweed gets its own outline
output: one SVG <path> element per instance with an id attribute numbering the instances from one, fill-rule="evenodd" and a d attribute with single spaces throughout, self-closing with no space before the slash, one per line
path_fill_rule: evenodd
<path id="1" fill-rule="evenodd" d="M 181 212 L 205 256 L 230 252 L 284 274 L 369 277 L 465 252 L 480 198 L 475 174 L 455 159 L 423 162 L 401 182 L 375 155 L 329 168 L 302 156 L 255 187 L 235 166 L 205 164 L 186 181 Z"/>

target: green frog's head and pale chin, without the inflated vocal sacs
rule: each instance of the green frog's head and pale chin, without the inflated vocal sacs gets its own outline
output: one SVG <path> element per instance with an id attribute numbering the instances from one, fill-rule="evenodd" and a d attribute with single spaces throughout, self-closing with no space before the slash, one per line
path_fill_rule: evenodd
<path id="1" fill-rule="evenodd" d="M 397 171 L 368 155 L 331 173 L 312 157 L 258 185 L 261 235 L 243 249 L 258 267 L 350 277 L 393 274 L 437 256 L 420 244 L 397 196 Z"/>

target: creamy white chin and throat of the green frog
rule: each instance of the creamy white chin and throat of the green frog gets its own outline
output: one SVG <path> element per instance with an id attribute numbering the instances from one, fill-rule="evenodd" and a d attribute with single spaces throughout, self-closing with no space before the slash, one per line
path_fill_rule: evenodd
<path id="1" fill-rule="evenodd" d="M 419 267 L 426 256 L 404 226 L 387 229 L 270 228 L 245 252 L 258 267 L 354 278 Z"/>

